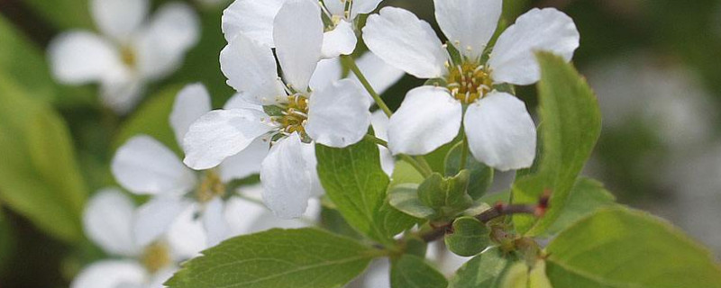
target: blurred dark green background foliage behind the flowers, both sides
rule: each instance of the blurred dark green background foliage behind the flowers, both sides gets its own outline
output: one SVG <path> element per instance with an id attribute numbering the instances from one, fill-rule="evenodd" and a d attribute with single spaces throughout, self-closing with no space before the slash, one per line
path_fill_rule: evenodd
<path id="1" fill-rule="evenodd" d="M 67 287 L 103 257 L 83 236 L 80 217 L 90 194 L 114 185 L 114 149 L 142 132 L 179 153 L 168 126 L 178 89 L 202 82 L 215 107 L 233 94 L 217 61 L 228 2 L 187 3 L 202 19 L 199 44 L 178 72 L 149 87 L 138 109 L 117 116 L 99 104 L 96 86 L 59 85 L 50 76 L 49 41 L 60 31 L 95 30 L 87 0 L 0 0 L 0 288 Z M 383 4 L 434 23 L 431 0 Z M 507 0 L 502 23 L 547 6 L 577 23 L 574 61 L 604 112 L 586 174 L 721 256 L 721 1 Z M 406 76 L 383 96 L 397 107 L 422 83 Z M 534 106 L 533 86 L 518 94 Z M 510 177 L 500 175 L 497 187 Z"/>

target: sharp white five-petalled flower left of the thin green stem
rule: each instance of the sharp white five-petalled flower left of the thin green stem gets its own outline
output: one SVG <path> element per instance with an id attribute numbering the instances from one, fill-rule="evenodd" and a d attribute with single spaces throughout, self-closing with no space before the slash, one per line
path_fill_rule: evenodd
<path id="1" fill-rule="evenodd" d="M 278 10 L 273 42 L 283 81 L 268 46 L 242 33 L 235 36 L 221 52 L 221 69 L 228 84 L 251 103 L 205 114 L 191 125 L 184 142 L 187 166 L 208 169 L 253 141 L 273 140 L 260 180 L 264 202 L 280 218 L 299 217 L 308 199 L 323 193 L 315 172 L 315 142 L 346 147 L 362 139 L 370 125 L 370 100 L 351 79 L 310 85 L 321 58 L 320 13 L 312 0 L 288 0 Z"/>

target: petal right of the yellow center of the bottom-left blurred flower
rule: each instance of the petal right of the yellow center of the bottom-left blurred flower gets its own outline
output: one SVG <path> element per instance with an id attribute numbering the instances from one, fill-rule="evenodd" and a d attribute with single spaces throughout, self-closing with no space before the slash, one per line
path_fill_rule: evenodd
<path id="1" fill-rule="evenodd" d="M 203 221 L 197 219 L 199 211 L 198 203 L 188 205 L 169 226 L 166 239 L 178 261 L 198 257 L 208 247 Z"/>

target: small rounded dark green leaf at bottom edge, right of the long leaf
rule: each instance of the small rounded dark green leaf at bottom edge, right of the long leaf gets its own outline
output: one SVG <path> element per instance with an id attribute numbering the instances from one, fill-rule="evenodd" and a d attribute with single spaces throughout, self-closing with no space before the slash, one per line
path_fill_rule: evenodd
<path id="1" fill-rule="evenodd" d="M 404 255 L 392 263 L 390 286 L 393 288 L 445 288 L 448 280 L 421 257 Z"/>

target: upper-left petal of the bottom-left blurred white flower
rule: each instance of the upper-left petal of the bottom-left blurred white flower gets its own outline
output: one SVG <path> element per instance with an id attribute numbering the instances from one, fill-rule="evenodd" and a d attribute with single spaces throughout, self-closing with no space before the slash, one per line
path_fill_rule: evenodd
<path id="1" fill-rule="evenodd" d="M 133 211 L 132 201 L 119 190 L 101 190 L 90 199 L 83 214 L 87 237 L 109 254 L 136 255 L 140 251 L 132 239 Z"/>

